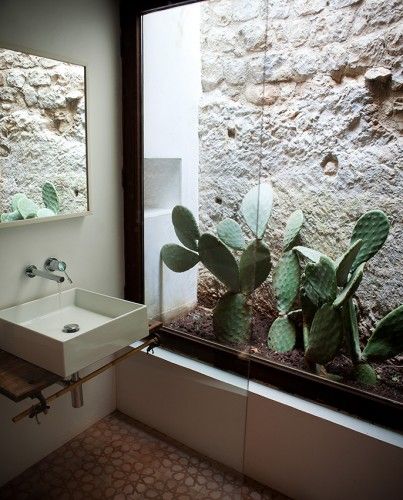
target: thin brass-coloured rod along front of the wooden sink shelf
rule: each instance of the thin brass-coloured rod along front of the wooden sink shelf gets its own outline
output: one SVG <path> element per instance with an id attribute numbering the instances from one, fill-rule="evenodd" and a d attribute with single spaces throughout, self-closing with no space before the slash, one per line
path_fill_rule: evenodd
<path id="1" fill-rule="evenodd" d="M 161 326 L 161 323 L 153 324 L 150 326 L 149 331 L 152 332 L 153 330 L 158 329 L 160 326 Z M 112 368 L 112 366 L 115 366 L 118 363 L 120 363 L 121 361 L 124 361 L 125 359 L 132 356 L 134 353 L 142 351 L 146 347 L 157 347 L 158 345 L 159 345 L 158 336 L 156 334 L 149 335 L 146 338 L 146 340 L 142 344 L 140 344 L 138 347 L 131 347 L 130 351 L 126 352 L 125 354 L 122 354 L 121 356 L 117 357 L 113 361 L 110 361 L 106 365 L 101 366 L 97 370 L 94 370 L 93 372 L 91 372 L 88 375 L 86 375 L 85 377 L 77 380 L 76 382 L 69 384 L 68 386 L 64 387 L 60 391 L 57 391 L 54 394 L 51 394 L 50 396 L 45 398 L 45 400 L 44 400 L 45 404 L 49 404 L 51 401 L 54 401 L 55 399 L 60 398 L 60 396 L 63 396 L 64 394 L 79 388 L 80 386 L 82 386 L 82 384 L 85 384 L 85 382 L 88 382 L 89 380 L 93 379 L 97 375 L 103 373 L 104 371 L 108 370 L 109 368 Z M 35 411 L 36 406 L 37 405 L 33 405 L 30 408 L 27 408 L 23 412 L 19 413 L 15 417 L 13 417 L 12 421 L 14 423 L 16 423 L 16 422 L 19 422 L 20 420 L 22 420 L 23 418 L 28 417 L 30 414 L 32 414 L 32 412 Z"/>

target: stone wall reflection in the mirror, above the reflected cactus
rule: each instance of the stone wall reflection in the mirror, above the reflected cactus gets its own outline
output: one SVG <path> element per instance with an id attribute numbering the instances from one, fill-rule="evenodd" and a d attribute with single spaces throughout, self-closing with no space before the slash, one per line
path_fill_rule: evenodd
<path id="1" fill-rule="evenodd" d="M 43 208 L 46 182 L 57 191 L 59 215 L 88 210 L 84 71 L 0 48 L 1 214 L 15 212 L 17 193 Z"/>

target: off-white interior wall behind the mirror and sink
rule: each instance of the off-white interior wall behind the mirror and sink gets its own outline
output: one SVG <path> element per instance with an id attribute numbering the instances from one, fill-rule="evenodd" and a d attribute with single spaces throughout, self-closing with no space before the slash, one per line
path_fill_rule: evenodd
<path id="1" fill-rule="evenodd" d="M 67 262 L 74 286 L 123 294 L 120 52 L 114 0 L 1 0 L 0 44 L 87 65 L 90 193 L 94 215 L 0 230 L 0 307 L 55 292 L 23 275 L 47 257 Z M 58 387 L 56 387 L 58 388 Z M 52 388 L 55 389 L 55 388 Z M 0 396 L 0 484 L 115 408 L 113 371 L 84 387 L 85 405 L 69 396 L 52 404 L 41 426 L 10 418 L 31 404 Z"/>

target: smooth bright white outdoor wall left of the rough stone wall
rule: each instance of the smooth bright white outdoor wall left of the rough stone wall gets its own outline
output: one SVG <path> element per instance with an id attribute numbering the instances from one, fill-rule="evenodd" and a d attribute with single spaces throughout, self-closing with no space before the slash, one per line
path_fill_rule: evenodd
<path id="1" fill-rule="evenodd" d="M 200 95 L 200 5 L 145 16 L 144 156 L 181 160 L 179 203 L 192 210 L 196 217 Z M 153 163 L 156 164 L 156 160 L 150 165 Z M 162 178 L 157 190 L 170 187 Z M 161 247 L 177 242 L 170 208 L 158 214 L 146 210 L 145 295 L 151 316 L 156 316 L 157 311 L 165 313 L 191 307 L 196 302 L 197 269 L 178 274 L 160 266 Z"/>

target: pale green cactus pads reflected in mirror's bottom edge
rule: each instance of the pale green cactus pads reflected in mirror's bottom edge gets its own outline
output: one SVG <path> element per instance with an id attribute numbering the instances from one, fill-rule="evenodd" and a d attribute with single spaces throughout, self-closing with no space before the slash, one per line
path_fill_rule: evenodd
<path id="1" fill-rule="evenodd" d="M 45 208 L 29 199 L 24 193 L 16 193 L 11 198 L 11 212 L 1 214 L 0 222 L 14 222 L 36 217 L 53 217 L 59 213 L 59 196 L 56 188 L 50 182 L 42 186 L 42 199 Z"/>

